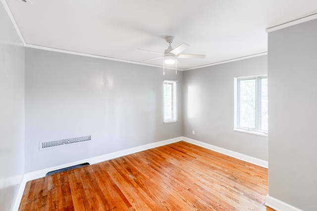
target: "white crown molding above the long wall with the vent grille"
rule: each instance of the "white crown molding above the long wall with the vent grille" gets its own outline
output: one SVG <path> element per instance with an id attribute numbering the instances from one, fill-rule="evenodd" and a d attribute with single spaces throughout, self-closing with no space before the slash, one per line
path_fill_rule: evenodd
<path id="1" fill-rule="evenodd" d="M 112 60 L 112 61 L 118 61 L 118 62 L 125 62 L 125 63 L 131 63 L 131 64 L 145 65 L 145 66 L 150 66 L 150 67 L 163 68 L 163 66 L 160 66 L 160 65 L 152 65 L 152 64 L 146 64 L 146 63 L 141 63 L 141 62 L 116 59 L 116 58 L 111 58 L 111 57 L 106 57 L 106 56 L 100 56 L 100 55 L 89 54 L 89 53 L 81 53 L 81 52 L 76 52 L 76 51 L 71 51 L 71 50 L 63 50 L 63 49 L 46 47 L 46 46 L 35 45 L 35 44 L 27 44 L 26 43 L 26 44 L 24 44 L 24 46 L 30 47 L 30 48 L 36 48 L 36 49 L 40 49 L 40 50 L 48 50 L 48 51 L 54 51 L 54 52 L 59 52 L 59 53 L 68 53 L 68 54 L 74 54 L 74 55 L 79 55 L 79 56 L 87 56 L 87 57 L 93 57 L 93 58 L 99 58 L 99 59 L 106 59 L 106 60 Z M 166 67 L 166 66 L 165 66 L 165 69 L 175 70 L 175 68 L 173 68 L 173 67 Z M 179 69 L 179 70 L 181 70 L 181 69 Z"/>

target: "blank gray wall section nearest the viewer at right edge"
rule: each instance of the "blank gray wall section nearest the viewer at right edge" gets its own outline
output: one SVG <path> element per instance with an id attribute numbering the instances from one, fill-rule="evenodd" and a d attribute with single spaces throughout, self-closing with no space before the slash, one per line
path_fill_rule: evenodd
<path id="1" fill-rule="evenodd" d="M 317 20 L 268 34 L 269 195 L 305 211 L 317 196 Z"/>

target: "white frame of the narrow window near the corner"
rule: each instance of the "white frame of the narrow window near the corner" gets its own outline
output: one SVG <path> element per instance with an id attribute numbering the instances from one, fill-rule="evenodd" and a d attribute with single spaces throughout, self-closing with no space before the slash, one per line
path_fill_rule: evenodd
<path id="1" fill-rule="evenodd" d="M 171 102 L 171 113 L 172 113 L 172 118 L 166 118 L 165 117 L 165 94 L 167 89 L 165 89 L 165 84 L 171 84 L 172 85 L 172 102 Z M 164 80 L 163 83 L 163 119 L 164 119 L 164 123 L 175 123 L 177 122 L 177 81 L 170 81 L 170 80 Z"/>

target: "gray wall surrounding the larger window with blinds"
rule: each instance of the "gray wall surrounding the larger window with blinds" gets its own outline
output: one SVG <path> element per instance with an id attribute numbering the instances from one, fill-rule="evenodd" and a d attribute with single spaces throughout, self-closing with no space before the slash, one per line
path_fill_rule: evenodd
<path id="1" fill-rule="evenodd" d="M 185 71 L 183 135 L 267 161 L 267 137 L 233 131 L 234 77 L 265 73 L 266 55 Z"/>

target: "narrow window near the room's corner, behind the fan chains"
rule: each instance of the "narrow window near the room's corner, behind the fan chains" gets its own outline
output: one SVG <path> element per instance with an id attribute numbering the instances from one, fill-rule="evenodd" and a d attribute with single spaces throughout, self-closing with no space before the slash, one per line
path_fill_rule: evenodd
<path id="1" fill-rule="evenodd" d="M 164 123 L 177 121 L 176 81 L 164 81 Z"/>

